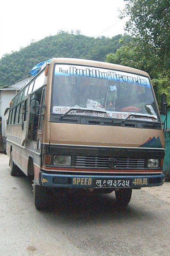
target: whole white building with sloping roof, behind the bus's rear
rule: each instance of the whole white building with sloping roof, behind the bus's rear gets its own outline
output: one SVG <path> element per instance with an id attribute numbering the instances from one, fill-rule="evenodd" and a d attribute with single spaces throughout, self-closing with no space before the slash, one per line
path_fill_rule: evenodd
<path id="1" fill-rule="evenodd" d="M 10 101 L 19 90 L 30 80 L 27 76 L 16 83 L 12 83 L 0 89 L 0 151 L 6 149 L 6 122 L 7 115 L 4 117 L 5 110 L 9 107 Z M 8 113 L 8 112 L 7 112 Z"/>

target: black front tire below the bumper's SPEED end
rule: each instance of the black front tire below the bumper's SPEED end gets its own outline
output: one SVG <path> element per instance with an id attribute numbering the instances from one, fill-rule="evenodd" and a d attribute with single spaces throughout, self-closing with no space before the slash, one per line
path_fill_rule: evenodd
<path id="1" fill-rule="evenodd" d="M 45 210 L 50 206 L 49 188 L 33 185 L 33 199 L 37 210 Z"/>

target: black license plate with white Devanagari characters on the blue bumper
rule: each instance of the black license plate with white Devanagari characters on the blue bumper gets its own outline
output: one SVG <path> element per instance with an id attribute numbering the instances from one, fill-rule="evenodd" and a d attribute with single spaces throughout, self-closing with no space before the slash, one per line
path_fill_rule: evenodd
<path id="1" fill-rule="evenodd" d="M 94 179 L 94 188 L 131 188 L 132 180 L 128 179 Z"/>

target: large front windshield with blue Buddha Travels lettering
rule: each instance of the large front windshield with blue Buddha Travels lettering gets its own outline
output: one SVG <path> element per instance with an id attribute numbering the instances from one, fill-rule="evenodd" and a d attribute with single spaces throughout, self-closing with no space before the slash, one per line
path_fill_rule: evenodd
<path id="1" fill-rule="evenodd" d="M 130 114 L 157 118 L 157 109 L 147 77 L 78 65 L 56 64 L 52 89 L 52 113 L 124 119 Z M 134 118 L 134 117 L 132 117 Z"/>

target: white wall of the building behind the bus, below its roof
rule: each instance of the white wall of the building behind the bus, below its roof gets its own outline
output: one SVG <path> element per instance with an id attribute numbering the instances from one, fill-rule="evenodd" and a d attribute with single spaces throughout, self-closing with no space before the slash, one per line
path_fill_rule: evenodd
<path id="1" fill-rule="evenodd" d="M 5 109 L 9 107 L 9 102 L 12 98 L 14 98 L 16 95 L 15 91 L 1 91 L 0 94 L 0 117 L 2 117 L 2 134 L 1 136 L 6 136 L 5 134 L 5 118 L 4 118 L 4 112 Z"/>

